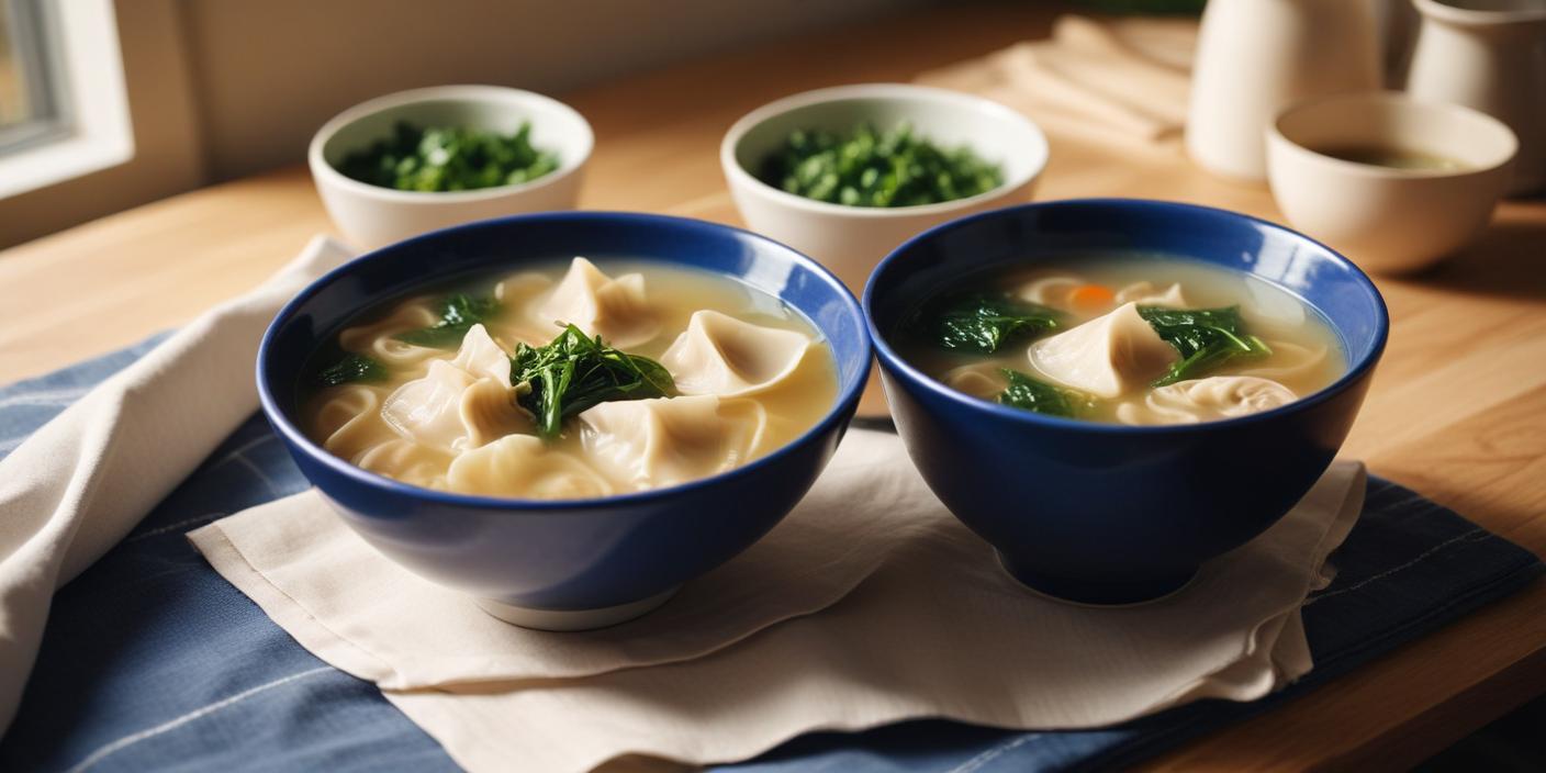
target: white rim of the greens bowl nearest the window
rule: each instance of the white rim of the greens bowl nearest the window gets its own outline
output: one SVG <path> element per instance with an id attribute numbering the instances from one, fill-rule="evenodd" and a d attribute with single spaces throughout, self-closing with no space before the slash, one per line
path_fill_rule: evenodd
<path id="1" fill-rule="evenodd" d="M 558 169 L 543 175 L 536 179 L 529 179 L 526 182 L 493 186 L 487 189 L 473 190 L 397 190 L 382 186 L 373 186 L 354 179 L 337 167 L 328 162 L 323 156 L 323 148 L 328 142 L 343 128 L 357 124 L 366 117 L 386 110 L 399 108 L 404 105 L 422 104 L 422 102 L 482 102 L 489 105 L 512 105 L 526 104 L 536 105 L 540 110 L 552 110 L 555 113 L 564 114 L 575 121 L 575 125 L 583 131 L 578 135 L 581 139 L 581 153 L 575 159 L 558 159 Z M 342 113 L 328 119 L 322 128 L 317 130 L 311 138 L 311 144 L 306 147 L 306 164 L 311 167 L 312 178 L 317 184 L 326 184 L 349 190 L 352 193 L 376 196 L 385 201 L 394 203 L 413 203 L 413 204 L 461 204 L 468 201 L 487 201 L 498 199 L 502 196 L 510 196 L 516 193 L 526 193 L 530 190 L 555 186 L 564 178 L 575 175 L 580 169 L 591 161 L 591 153 L 595 150 L 595 130 L 591 128 L 591 122 L 580 114 L 578 110 L 560 102 L 547 94 L 538 94 L 536 91 L 527 91 L 524 88 L 513 87 L 498 87 L 498 85 L 482 85 L 482 83 L 462 83 L 462 85 L 444 85 L 444 87 L 425 87 L 425 88 L 410 88 L 407 91 L 393 91 L 390 94 L 382 94 L 377 97 L 366 99 L 354 107 L 343 110 Z"/>

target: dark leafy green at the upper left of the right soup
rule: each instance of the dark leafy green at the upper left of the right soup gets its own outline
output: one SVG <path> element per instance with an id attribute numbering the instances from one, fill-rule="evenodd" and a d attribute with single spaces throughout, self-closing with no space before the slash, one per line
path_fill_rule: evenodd
<path id="1" fill-rule="evenodd" d="M 951 295 L 926 305 L 920 332 L 945 349 L 993 354 L 1017 340 L 1057 328 L 1057 312 L 1008 295 Z"/>

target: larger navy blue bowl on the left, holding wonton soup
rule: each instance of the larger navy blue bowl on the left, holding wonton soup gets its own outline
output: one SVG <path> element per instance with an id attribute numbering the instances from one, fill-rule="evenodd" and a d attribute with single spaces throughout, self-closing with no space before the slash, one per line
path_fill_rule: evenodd
<path id="1" fill-rule="evenodd" d="M 782 298 L 832 346 L 836 402 L 795 442 L 724 475 L 572 501 L 407 485 L 329 455 L 297 425 L 303 363 L 354 314 L 427 283 L 574 255 L 703 269 Z M 561 212 L 438 230 L 322 277 L 280 311 L 263 337 L 258 394 L 300 470 L 382 553 L 478 597 L 507 620 L 591 628 L 648 611 L 784 518 L 836 450 L 869 363 L 870 339 L 858 301 L 830 272 L 790 247 L 696 220 Z"/>

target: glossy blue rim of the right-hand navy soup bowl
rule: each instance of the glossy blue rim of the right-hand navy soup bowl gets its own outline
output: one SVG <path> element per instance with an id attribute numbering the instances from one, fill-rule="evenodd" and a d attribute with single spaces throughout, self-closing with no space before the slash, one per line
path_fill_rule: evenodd
<path id="1" fill-rule="evenodd" d="M 969 224 L 977 223 L 980 220 L 1003 218 L 1003 216 L 1010 216 L 1013 213 L 1019 213 L 1019 212 L 1023 212 L 1023 210 L 1045 210 L 1045 209 L 1087 207 L 1087 206 L 1118 206 L 1118 207 L 1138 207 L 1138 209 L 1156 209 L 1156 210 L 1190 210 L 1190 212 L 1201 212 L 1201 213 L 1207 213 L 1207 215 L 1214 215 L 1214 216 L 1223 215 L 1223 216 L 1228 216 L 1228 218 L 1240 218 L 1240 220 L 1249 221 L 1251 224 L 1254 224 L 1257 227 L 1265 227 L 1265 229 L 1277 230 L 1277 232 L 1286 233 L 1289 237 L 1308 241 L 1308 243 L 1311 243 L 1311 244 L 1323 249 L 1328 255 L 1331 255 L 1345 269 L 1350 269 L 1351 275 L 1364 286 L 1364 289 L 1374 300 L 1374 312 L 1376 312 L 1376 318 L 1374 318 L 1374 346 L 1362 359 L 1359 359 L 1357 362 L 1351 363 L 1348 366 L 1347 373 L 1343 373 L 1337 380 L 1331 382 L 1326 386 L 1322 386 L 1320 390 L 1316 390 L 1311 394 L 1306 394 L 1305 397 L 1300 397 L 1300 399 L 1297 399 L 1294 402 L 1289 402 L 1286 405 L 1280 405 L 1277 408 L 1271 408 L 1271 410 L 1266 410 L 1266 411 L 1258 411 L 1258 413 L 1252 413 L 1252 414 L 1246 414 L 1246 416 L 1237 416 L 1237 417 L 1232 417 L 1232 419 L 1215 419 L 1215 421 L 1206 421 L 1206 422 L 1197 422 L 1197 424 L 1127 425 L 1127 424 L 1091 422 L 1091 421 L 1082 421 L 1082 419 L 1064 419 L 1064 417 L 1059 417 L 1059 416 L 1047 416 L 1047 414 L 1036 413 L 1036 411 L 1027 411 L 1027 410 L 1020 410 L 1020 408 L 1011 408 L 1008 405 L 999 405 L 996 402 L 985 400 L 985 399 L 980 399 L 980 397 L 972 397 L 972 396 L 969 396 L 969 394 L 966 394 L 963 391 L 952 390 L 952 388 L 946 386 L 943 382 L 940 382 L 938 379 L 935 379 L 935 377 L 932 377 L 932 376 L 920 371 L 918 368 L 914 368 L 906 359 L 903 359 L 900 354 L 897 354 L 897 351 L 892 349 L 890 343 L 886 340 L 886 335 L 880 331 L 880 326 L 875 325 L 875 315 L 873 315 L 875 278 L 880 277 L 881 272 L 884 272 L 894 261 L 900 260 L 900 257 L 901 257 L 901 254 L 904 250 L 912 249 L 914 244 L 920 244 L 923 241 L 937 238 L 938 235 L 943 235 L 943 233 L 948 233 L 951 230 L 969 226 Z M 1265 281 L 1272 281 L 1272 280 L 1266 280 L 1265 277 L 1263 277 L 1263 280 Z M 1275 281 L 1272 281 L 1272 283 L 1277 284 Z M 1286 288 L 1283 288 L 1283 289 L 1286 289 Z M 1292 292 L 1292 291 L 1289 291 L 1289 292 Z M 1294 294 L 1294 295 L 1297 297 L 1297 294 Z M 1300 298 L 1300 301 L 1302 303 L 1308 303 L 1303 298 Z M 946 399 L 949 402 L 954 402 L 954 404 L 960 405 L 965 410 L 979 411 L 979 413 L 985 413 L 985 414 L 989 414 L 989 416 L 997 416 L 999 419 L 1008 421 L 1008 422 L 1019 422 L 1019 424 L 1027 424 L 1027 425 L 1033 425 L 1033 427 L 1045 427 L 1045 428 L 1053 428 L 1053 430 L 1081 431 L 1081 433 L 1090 433 L 1090 434 L 1146 434 L 1146 436 L 1195 434 L 1198 431 L 1231 430 L 1231 428 L 1237 428 L 1237 427 L 1246 427 L 1246 425 L 1251 425 L 1251 424 L 1272 421 L 1272 419 L 1277 419 L 1277 417 L 1282 417 L 1282 416 L 1288 416 L 1288 414 L 1292 414 L 1292 413 L 1306 411 L 1306 410 L 1309 410 L 1309 408 L 1313 408 L 1313 407 L 1316 407 L 1316 405 L 1319 405 L 1322 402 L 1326 402 L 1331 397 L 1340 394 L 1348 386 L 1351 386 L 1359 379 L 1362 379 L 1379 362 L 1381 356 L 1385 351 L 1385 343 L 1390 340 L 1390 312 L 1385 308 L 1385 298 L 1384 298 L 1384 295 L 1381 295 L 1379 288 L 1374 286 L 1374 281 L 1368 278 L 1368 274 L 1364 274 L 1364 271 L 1359 269 L 1357 264 L 1354 264 L 1351 260 L 1348 260 L 1340 252 L 1337 252 L 1337 250 L 1334 250 L 1334 249 L 1331 249 L 1331 247 L 1328 247 L 1328 246 L 1325 246 L 1325 244 L 1322 244 L 1322 243 L 1319 243 L 1319 241 L 1316 241 L 1316 240 L 1313 240 L 1313 238 L 1309 238 L 1309 237 L 1306 237 L 1306 235 L 1303 235 L 1303 233 L 1300 233 L 1300 232 L 1297 232 L 1294 229 L 1280 226 L 1277 223 L 1272 223 L 1272 221 L 1268 221 L 1268 220 L 1263 220 L 1263 218 L 1257 218 L 1254 215 L 1246 215 L 1246 213 L 1241 213 L 1241 212 L 1231 212 L 1228 209 L 1220 209 L 1220 207 L 1206 207 L 1206 206 L 1201 206 L 1201 204 L 1184 204 L 1184 203 L 1178 203 L 1178 201 L 1141 199 L 1141 198 L 1073 198 L 1073 199 L 1059 199 L 1059 201 L 1039 201 L 1039 203 L 1031 203 L 1031 204 L 1019 204 L 1019 206 L 1014 206 L 1014 207 L 1003 207 L 1003 209 L 996 209 L 996 210 L 989 210 L 989 212 L 982 212 L 982 213 L 977 213 L 977 215 L 969 215 L 969 216 L 965 216 L 965 218 L 952 220 L 952 221 L 945 223 L 942 226 L 935 226 L 935 227 L 932 227 L 929 230 L 925 230 L 923 233 L 918 233 L 917 237 L 904 241 L 901 246 L 898 246 L 895 250 L 892 250 L 889 255 L 886 255 L 886 258 L 883 258 L 880 261 L 880 264 L 870 274 L 870 280 L 864 284 L 864 300 L 863 300 L 861 305 L 864 308 L 864 323 L 869 325 L 869 328 L 870 328 L 870 345 L 875 348 L 877 359 L 880 359 L 883 365 L 887 365 L 894 371 L 900 373 L 908 380 L 915 382 L 921 388 L 934 393 L 937 397 L 943 397 L 943 399 Z"/>

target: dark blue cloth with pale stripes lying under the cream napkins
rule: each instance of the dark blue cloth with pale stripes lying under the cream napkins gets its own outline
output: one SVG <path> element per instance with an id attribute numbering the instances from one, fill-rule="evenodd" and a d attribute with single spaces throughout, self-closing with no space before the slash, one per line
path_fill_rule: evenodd
<path id="1" fill-rule="evenodd" d="M 155 343 L 0 388 L 0 456 Z M 122 544 L 63 587 L 17 719 L 0 739 L 0 770 L 456 770 L 371 683 L 301 649 L 182 538 L 305 487 L 254 416 Z M 1119 765 L 1292 700 L 1541 570 L 1527 550 L 1381 479 L 1370 479 L 1364 516 L 1333 560 L 1336 583 L 1305 608 L 1316 669 L 1266 700 L 1194 703 L 1090 731 L 1017 733 L 928 720 L 818 733 L 730 770 L 993 773 Z M 510 767 L 519 770 L 519 761 Z"/>

